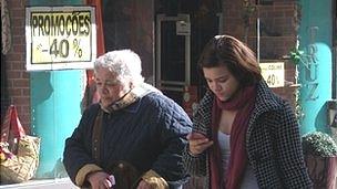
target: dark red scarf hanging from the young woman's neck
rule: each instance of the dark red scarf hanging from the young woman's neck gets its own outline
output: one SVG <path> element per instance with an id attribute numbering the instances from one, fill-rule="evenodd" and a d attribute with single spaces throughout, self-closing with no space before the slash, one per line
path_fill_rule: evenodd
<path id="1" fill-rule="evenodd" d="M 211 188 L 218 189 L 224 181 L 226 189 L 239 188 L 247 165 L 245 135 L 248 128 L 249 115 L 254 108 L 256 88 L 244 87 L 227 102 L 215 98 L 212 107 L 212 139 L 214 145 L 211 150 Z M 217 132 L 222 109 L 237 111 L 231 129 L 231 157 L 227 171 L 221 169 L 222 157 L 218 146 Z"/>

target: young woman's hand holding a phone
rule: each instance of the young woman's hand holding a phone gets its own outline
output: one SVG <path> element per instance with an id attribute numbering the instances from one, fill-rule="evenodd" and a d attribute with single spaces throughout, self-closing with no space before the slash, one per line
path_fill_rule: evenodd
<path id="1" fill-rule="evenodd" d="M 205 149 L 213 145 L 213 141 L 210 140 L 205 135 L 192 132 L 187 135 L 190 153 L 194 156 L 202 154 Z"/>

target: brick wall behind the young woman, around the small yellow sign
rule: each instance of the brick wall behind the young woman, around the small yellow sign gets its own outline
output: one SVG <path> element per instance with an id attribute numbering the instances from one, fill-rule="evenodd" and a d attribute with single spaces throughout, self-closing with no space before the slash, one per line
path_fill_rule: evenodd
<path id="1" fill-rule="evenodd" d="M 256 25 L 259 19 L 259 57 L 261 62 L 285 62 L 285 80 L 288 86 L 273 88 L 282 97 L 288 99 L 295 105 L 295 88 L 289 86 L 296 83 L 295 66 L 289 60 L 284 57 L 289 54 L 292 48 L 296 46 L 298 29 L 298 7 L 296 0 L 259 0 L 257 6 L 255 0 L 248 0 L 249 6 L 255 11 L 249 15 L 248 28 L 244 22 L 243 15 L 246 7 L 242 1 L 223 0 L 223 33 L 232 34 L 242 41 L 255 52 L 256 50 Z M 247 30 L 246 30 L 247 29 Z"/>

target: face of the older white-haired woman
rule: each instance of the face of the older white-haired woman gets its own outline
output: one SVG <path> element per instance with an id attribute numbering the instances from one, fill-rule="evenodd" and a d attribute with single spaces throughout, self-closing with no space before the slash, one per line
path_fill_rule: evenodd
<path id="1" fill-rule="evenodd" d="M 105 107 L 119 101 L 131 90 L 131 84 L 124 84 L 125 82 L 121 82 L 116 74 L 104 67 L 95 71 L 95 83 L 101 103 Z"/>

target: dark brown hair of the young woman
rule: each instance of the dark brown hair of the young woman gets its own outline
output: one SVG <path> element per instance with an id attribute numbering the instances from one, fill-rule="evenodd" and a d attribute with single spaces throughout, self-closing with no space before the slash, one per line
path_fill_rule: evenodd
<path id="1" fill-rule="evenodd" d="M 200 69 L 225 65 L 242 86 L 261 81 L 255 53 L 231 35 L 216 35 L 205 45 L 198 60 Z"/>

